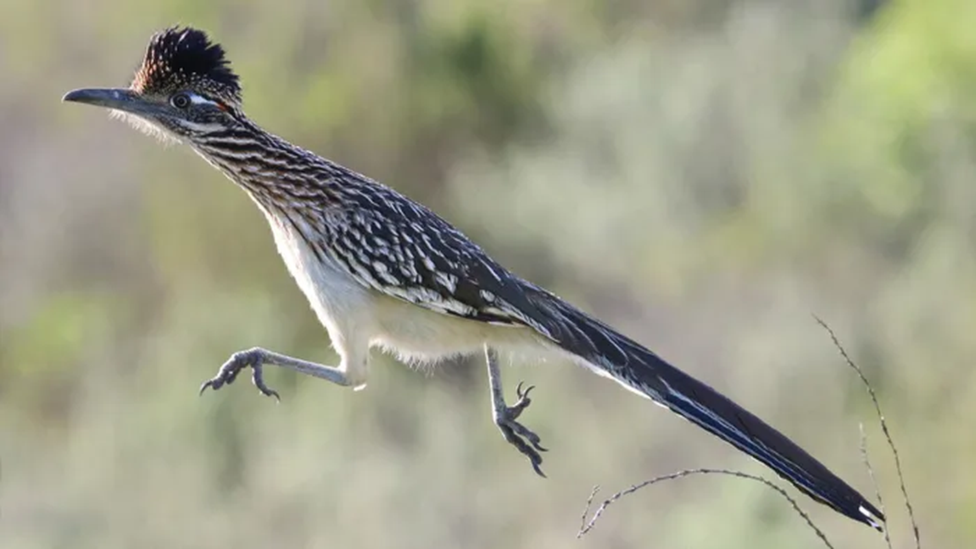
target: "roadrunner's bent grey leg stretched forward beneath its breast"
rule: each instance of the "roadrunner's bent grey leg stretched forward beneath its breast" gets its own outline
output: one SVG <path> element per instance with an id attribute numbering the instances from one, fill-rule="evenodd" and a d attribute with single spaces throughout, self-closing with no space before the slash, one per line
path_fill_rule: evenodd
<path id="1" fill-rule="evenodd" d="M 204 381 L 204 383 L 200 385 L 200 394 L 203 394 L 208 387 L 216 391 L 224 385 L 233 383 L 234 379 L 237 378 L 237 374 L 240 373 L 241 370 L 250 368 L 251 381 L 254 382 L 256 387 L 258 387 L 258 390 L 260 390 L 264 396 L 274 397 L 275 399 L 281 400 L 278 397 L 277 391 L 264 384 L 264 365 L 288 368 L 298 373 L 305 373 L 315 377 L 321 377 L 322 379 L 328 379 L 329 381 L 332 381 L 338 385 L 346 386 L 353 384 L 343 369 L 331 366 L 322 366 L 320 364 L 293 358 L 281 353 L 268 351 L 266 349 L 262 349 L 261 347 L 254 347 L 246 351 L 237 351 L 236 353 L 230 355 L 230 358 L 227 359 L 227 362 L 224 363 L 224 366 L 221 367 L 221 370 L 218 371 L 217 375 L 215 375 L 212 379 Z M 361 383 L 357 383 L 357 385 L 362 386 Z"/>

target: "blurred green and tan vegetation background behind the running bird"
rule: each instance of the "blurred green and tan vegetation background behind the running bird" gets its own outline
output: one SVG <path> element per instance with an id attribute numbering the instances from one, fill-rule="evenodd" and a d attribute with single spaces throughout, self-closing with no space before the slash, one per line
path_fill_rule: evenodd
<path id="1" fill-rule="evenodd" d="M 879 391 L 928 548 L 976 544 L 976 2 L 160 0 L 0 3 L 0 547 L 821 547 L 772 475 L 564 365 L 490 419 L 480 360 L 369 388 L 334 363 L 243 192 L 91 107 L 155 30 L 207 29 L 248 113 L 425 202 L 513 271 L 769 419 L 872 493 L 911 546 Z M 792 490 L 792 489 L 791 489 Z M 837 547 L 881 536 L 800 497 Z"/>

